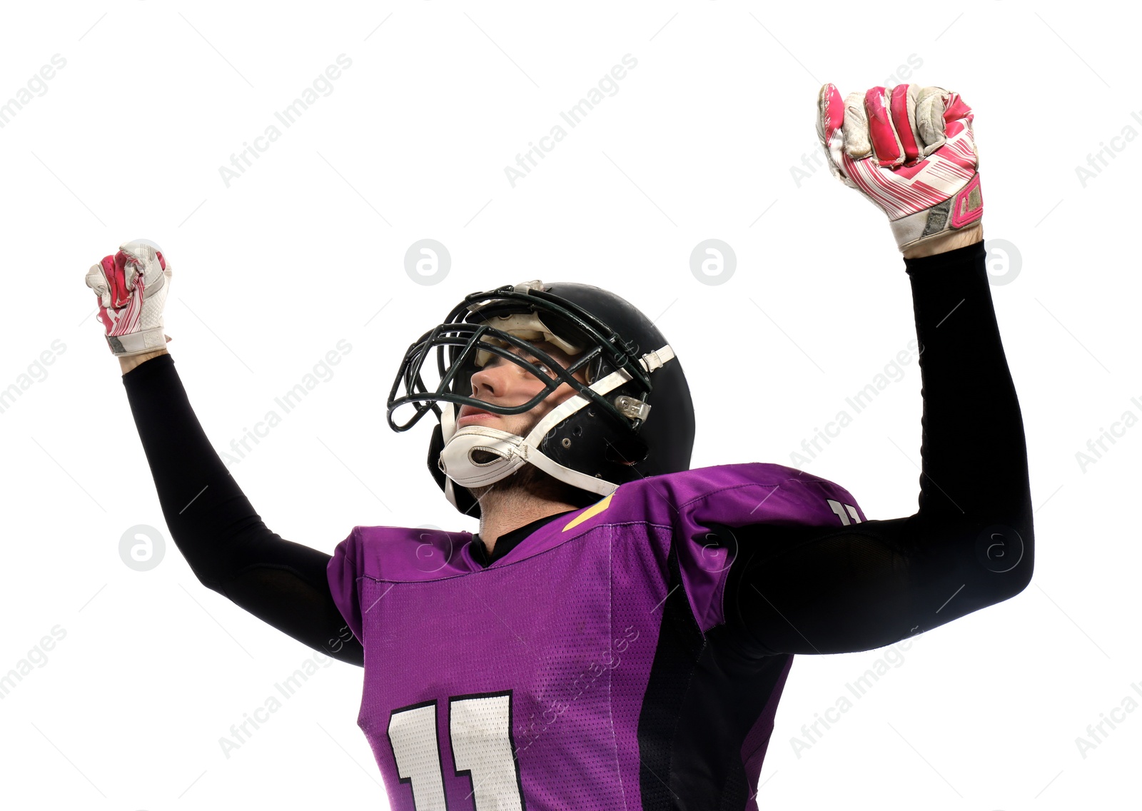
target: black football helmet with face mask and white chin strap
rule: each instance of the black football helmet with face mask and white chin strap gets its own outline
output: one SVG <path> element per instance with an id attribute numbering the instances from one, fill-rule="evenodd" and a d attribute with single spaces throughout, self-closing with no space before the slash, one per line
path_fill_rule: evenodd
<path id="1" fill-rule="evenodd" d="M 573 355 L 571 366 L 563 368 L 532 342 L 548 342 Z M 555 377 L 513 350 L 536 358 Z M 433 364 L 426 368 L 433 351 L 435 376 L 429 375 Z M 493 354 L 526 369 L 544 390 L 514 407 L 472 398 L 472 376 Z M 573 377 L 582 369 L 586 384 Z M 425 375 L 435 384 L 432 388 Z M 523 413 L 562 383 L 576 394 L 528 437 L 485 426 L 456 427 L 460 406 Z M 399 424 L 394 412 L 404 406 L 412 406 L 413 413 Z M 428 447 L 428 471 L 452 506 L 474 517 L 480 504 L 465 484 L 499 481 L 521 464 L 584 491 L 586 505 L 624 482 L 689 469 L 694 441 L 690 388 L 666 338 L 628 302 L 589 284 L 534 280 L 465 296 L 443 323 L 409 346 L 388 394 L 393 431 L 408 431 L 429 411 L 439 424 Z M 471 453 L 477 449 L 500 458 L 475 461 Z"/>

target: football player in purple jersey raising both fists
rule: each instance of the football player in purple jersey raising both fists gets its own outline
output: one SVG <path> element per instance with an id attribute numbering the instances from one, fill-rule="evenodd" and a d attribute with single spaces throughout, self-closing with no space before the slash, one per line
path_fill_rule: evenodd
<path id="1" fill-rule="evenodd" d="M 171 537 L 204 586 L 364 668 L 357 723 L 394 809 L 756 809 L 796 655 L 887 645 L 1031 577 L 972 120 L 939 87 L 818 99 L 830 171 L 888 216 L 911 286 L 914 515 L 869 520 L 782 465 L 691 469 L 690 390 L 661 331 L 606 290 L 531 280 L 459 302 L 387 401 L 397 432 L 435 420 L 429 474 L 480 530 L 357 525 L 331 555 L 286 540 L 155 348 L 171 271 L 136 241 L 87 282 Z M 764 386 L 746 379 L 732 413 Z"/>

